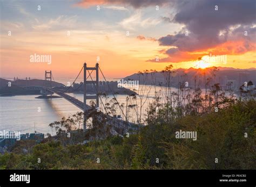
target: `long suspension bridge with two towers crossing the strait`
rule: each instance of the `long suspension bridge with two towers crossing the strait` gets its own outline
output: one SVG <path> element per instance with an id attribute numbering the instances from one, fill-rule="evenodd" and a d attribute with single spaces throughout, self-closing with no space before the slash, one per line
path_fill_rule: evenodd
<path id="1" fill-rule="evenodd" d="M 105 82 L 106 82 L 106 86 L 109 88 L 109 90 L 111 91 L 114 99 L 116 99 L 116 97 L 114 96 L 114 93 L 109 85 L 109 83 L 106 81 L 106 78 L 102 72 L 102 70 L 99 67 L 99 64 L 96 63 L 95 67 L 87 67 L 86 63 L 84 63 L 82 69 L 79 71 L 77 77 L 75 78 L 75 81 L 73 81 L 73 83 L 64 91 L 59 91 L 56 88 L 52 88 L 51 86 L 51 82 L 52 80 L 54 81 L 53 75 L 52 75 L 52 71 L 45 71 L 45 87 L 44 89 L 44 93 L 43 95 L 52 95 L 52 93 L 55 93 L 56 95 L 68 100 L 68 102 L 72 103 L 73 105 L 77 106 L 80 110 L 83 111 L 84 114 L 84 130 L 86 130 L 86 121 L 87 118 L 90 116 L 91 112 L 96 112 L 98 115 L 98 119 L 100 119 L 101 121 L 104 121 L 104 125 L 110 125 L 111 128 L 111 134 L 113 135 L 124 135 L 127 132 L 132 132 L 132 131 L 137 131 L 139 126 L 138 124 L 134 124 L 131 123 L 129 121 L 127 121 L 127 117 L 125 116 L 122 107 L 118 104 L 118 107 L 120 109 L 120 111 L 123 114 L 123 117 L 125 118 L 125 120 L 123 119 L 119 119 L 113 116 L 110 116 L 110 114 L 107 112 L 106 107 L 103 103 L 102 98 L 100 97 L 100 93 L 99 93 L 99 71 L 102 74 Z M 79 89 L 80 87 L 83 86 L 83 96 L 84 96 L 84 100 L 83 102 L 76 99 L 75 97 L 72 97 L 70 95 L 68 95 L 65 92 L 68 92 L 70 90 L 70 88 L 72 88 L 72 86 L 75 84 L 75 82 L 77 81 L 78 77 L 80 76 L 80 74 L 82 74 L 83 72 L 83 83 L 79 85 L 79 87 L 77 89 Z M 96 76 L 92 77 L 92 73 L 95 72 Z M 96 90 L 96 94 L 95 95 L 87 95 L 87 89 L 88 88 L 92 88 L 94 87 Z M 96 100 L 96 105 L 95 106 L 89 106 L 86 104 L 86 100 Z M 116 99 L 117 101 L 117 99 Z M 99 104 L 101 104 L 103 106 L 103 111 L 105 111 L 105 113 L 100 109 Z M 93 126 L 93 124 L 92 124 Z"/>

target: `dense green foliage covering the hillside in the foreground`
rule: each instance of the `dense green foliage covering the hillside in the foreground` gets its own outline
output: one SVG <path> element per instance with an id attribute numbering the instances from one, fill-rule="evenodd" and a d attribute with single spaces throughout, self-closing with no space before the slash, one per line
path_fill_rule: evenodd
<path id="1" fill-rule="evenodd" d="M 161 118 L 159 115 L 129 138 L 112 136 L 85 145 L 63 145 L 52 139 L 34 146 L 20 142 L 11 153 L 0 155 L 0 168 L 255 169 L 255 100 L 169 123 Z M 197 131 L 197 141 L 176 139 L 175 132 L 180 129 Z M 23 147 L 28 151 L 24 153 Z"/>

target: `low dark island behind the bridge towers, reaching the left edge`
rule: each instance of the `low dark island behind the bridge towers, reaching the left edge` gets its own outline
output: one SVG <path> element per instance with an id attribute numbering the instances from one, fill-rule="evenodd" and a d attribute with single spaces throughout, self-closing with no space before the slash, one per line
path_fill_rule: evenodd
<path id="1" fill-rule="evenodd" d="M 50 81 L 46 81 L 46 85 L 50 85 Z M 51 81 L 51 86 L 55 88 L 55 90 L 60 92 L 67 93 L 83 93 L 84 87 L 83 82 L 75 83 L 72 87 L 66 87 L 62 83 L 58 83 L 55 81 Z M 41 95 L 36 98 L 60 98 L 59 96 L 43 96 L 45 87 L 45 80 L 5 80 L 4 78 L 0 78 L 0 96 L 20 96 L 20 95 Z M 96 94 L 96 87 L 93 84 L 87 84 L 87 93 Z M 99 94 L 100 95 L 109 95 L 109 94 L 120 94 L 120 95 L 137 95 L 136 92 L 118 86 L 117 81 L 99 81 Z"/>

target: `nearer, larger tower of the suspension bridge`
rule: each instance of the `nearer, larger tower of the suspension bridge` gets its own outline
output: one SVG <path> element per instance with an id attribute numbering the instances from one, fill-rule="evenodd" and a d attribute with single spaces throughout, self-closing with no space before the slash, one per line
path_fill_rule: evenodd
<path id="1" fill-rule="evenodd" d="M 86 71 L 87 70 L 95 70 L 96 71 L 96 80 L 87 81 Z M 86 86 L 87 84 L 94 84 L 96 88 L 96 95 L 94 96 L 86 96 Z M 86 63 L 84 63 L 84 131 L 86 130 L 86 100 L 87 99 L 96 99 L 96 109 L 99 109 L 99 64 L 96 63 L 95 67 L 87 67 Z"/>

